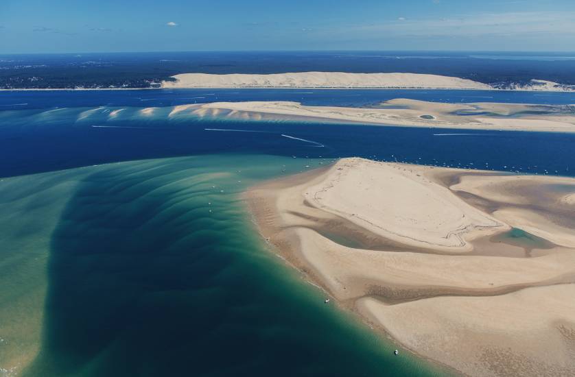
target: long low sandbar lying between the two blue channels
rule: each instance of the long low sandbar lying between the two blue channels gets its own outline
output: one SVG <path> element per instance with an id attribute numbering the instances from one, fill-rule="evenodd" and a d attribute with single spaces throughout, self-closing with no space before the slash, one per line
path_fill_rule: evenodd
<path id="1" fill-rule="evenodd" d="M 187 107 L 178 106 L 179 113 L 185 110 L 200 116 L 217 113 L 240 119 L 261 119 L 262 116 L 266 119 L 297 117 L 297 119 L 405 127 L 575 132 L 575 114 L 570 106 L 442 104 L 412 99 L 392 99 L 372 108 L 303 106 L 288 101 L 214 102 Z"/>

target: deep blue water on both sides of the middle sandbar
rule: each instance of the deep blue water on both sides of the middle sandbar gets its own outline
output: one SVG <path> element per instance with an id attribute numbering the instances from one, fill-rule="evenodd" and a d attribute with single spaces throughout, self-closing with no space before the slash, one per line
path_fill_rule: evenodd
<path id="1" fill-rule="evenodd" d="M 575 134 L 448 132 L 295 121 L 174 119 L 167 117 L 165 111 L 152 117 L 139 115 L 141 108 L 167 108 L 209 101 L 267 99 L 300 101 L 315 106 L 365 106 L 393 98 L 446 102 L 575 103 L 573 93 L 481 90 L 4 92 L 0 93 L 0 106 L 4 109 L 0 112 L 0 176 L 123 160 L 220 153 L 302 158 L 362 156 L 429 165 L 489 167 L 501 171 L 548 171 L 561 175 L 570 175 L 575 169 L 572 154 Z M 110 117 L 110 112 L 119 109 L 125 109 L 120 117 Z M 253 132 L 206 130 L 214 128 Z M 295 138 L 282 136 L 285 134 Z M 318 144 L 323 147 L 318 147 Z"/>

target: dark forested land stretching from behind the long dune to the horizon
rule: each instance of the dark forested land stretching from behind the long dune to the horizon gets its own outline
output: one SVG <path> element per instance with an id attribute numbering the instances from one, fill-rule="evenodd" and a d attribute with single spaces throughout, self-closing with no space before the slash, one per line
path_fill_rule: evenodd
<path id="1" fill-rule="evenodd" d="M 533 86 L 533 79 L 575 85 L 573 61 L 557 53 L 439 51 L 252 51 L 0 54 L 2 89 L 153 88 L 185 73 L 412 73 L 460 77 L 497 89 Z M 567 58 L 567 59 L 565 59 Z M 575 58 L 575 56 L 572 56 Z M 266 64 L 254 64 L 265 61 Z M 62 73 L 65 72 L 65 75 Z M 541 82 L 539 82 L 541 84 Z M 403 85 L 402 85 L 403 86 Z M 542 88 L 539 86 L 539 90 Z"/>

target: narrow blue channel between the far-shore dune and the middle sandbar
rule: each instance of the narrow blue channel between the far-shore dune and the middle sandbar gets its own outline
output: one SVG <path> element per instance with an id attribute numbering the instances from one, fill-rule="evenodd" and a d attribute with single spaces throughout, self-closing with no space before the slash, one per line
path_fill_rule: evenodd
<path id="1" fill-rule="evenodd" d="M 136 108 L 237 101 L 296 101 L 308 106 L 366 106 L 396 98 L 420 101 L 517 104 L 575 104 L 575 93 L 511 90 L 433 89 L 140 89 L 12 91 L 0 93 L 0 110 L 62 107 L 131 106 Z"/>

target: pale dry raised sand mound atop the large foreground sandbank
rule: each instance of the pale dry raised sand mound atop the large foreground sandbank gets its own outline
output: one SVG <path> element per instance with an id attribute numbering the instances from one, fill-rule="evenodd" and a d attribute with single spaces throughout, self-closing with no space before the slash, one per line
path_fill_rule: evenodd
<path id="1" fill-rule="evenodd" d="M 421 174 L 369 160 L 342 160 L 325 180 L 309 186 L 304 196 L 317 208 L 375 234 L 438 250 L 469 250 L 467 234 L 505 227 Z"/>

